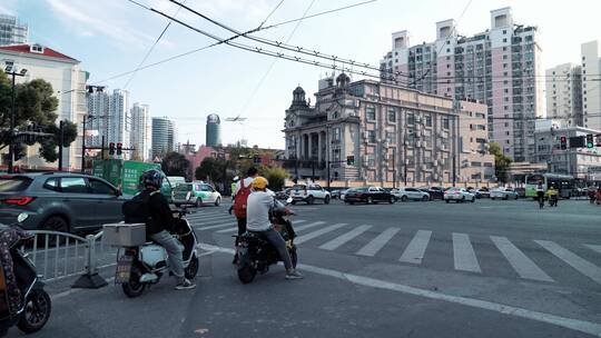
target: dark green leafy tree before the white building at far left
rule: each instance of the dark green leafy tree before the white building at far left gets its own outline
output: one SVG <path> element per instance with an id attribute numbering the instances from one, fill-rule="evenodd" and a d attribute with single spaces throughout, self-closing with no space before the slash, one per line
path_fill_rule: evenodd
<path id="1" fill-rule="evenodd" d="M 12 109 L 12 84 L 8 76 L 0 71 L 0 150 L 10 145 L 10 117 Z M 57 160 L 57 147 L 60 143 L 60 130 L 57 126 L 58 99 L 53 96 L 52 84 L 36 79 L 16 86 L 17 130 L 26 131 L 35 127 L 36 131 L 51 133 L 50 137 L 27 136 L 14 139 L 14 158 L 24 156 L 24 146 L 41 146 L 40 156 L 49 162 Z M 69 147 L 77 138 L 77 125 L 63 123 L 63 147 Z"/>

